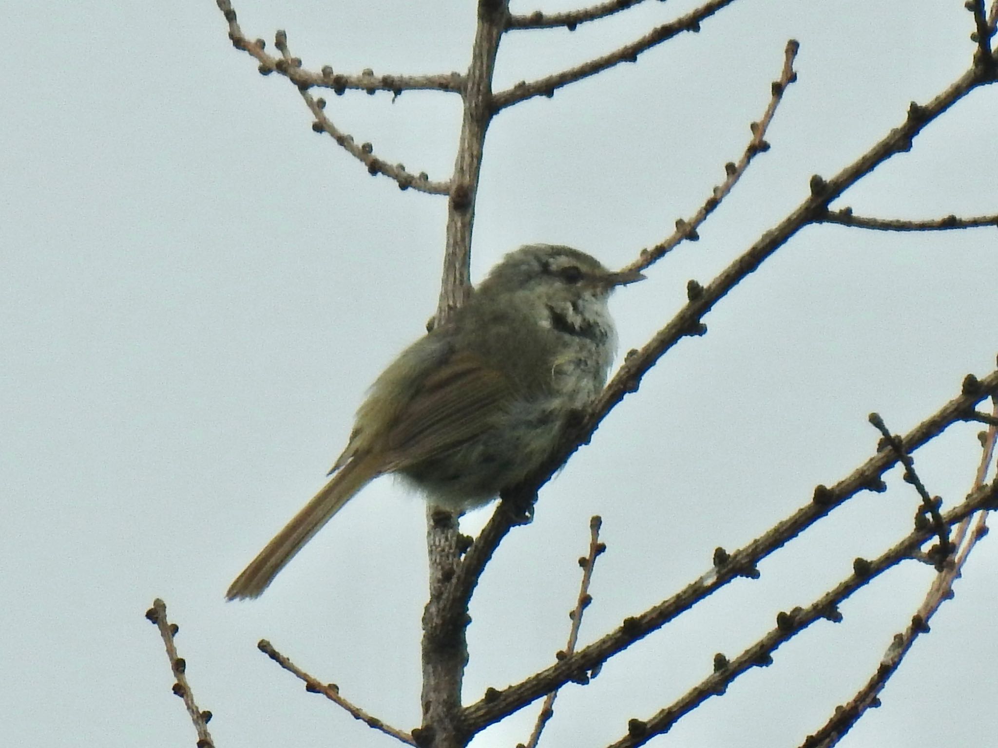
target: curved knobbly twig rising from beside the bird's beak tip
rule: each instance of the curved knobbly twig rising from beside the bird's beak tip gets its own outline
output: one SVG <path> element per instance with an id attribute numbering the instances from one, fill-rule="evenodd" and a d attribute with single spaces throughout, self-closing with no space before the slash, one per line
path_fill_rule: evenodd
<path id="1" fill-rule="evenodd" d="M 711 196 L 707 198 L 693 217 L 689 220 L 684 218 L 677 219 L 676 230 L 673 231 L 672 235 L 651 249 L 643 249 L 641 256 L 628 265 L 627 269 L 643 270 L 675 249 L 684 239 L 689 239 L 690 241 L 699 239 L 700 235 L 697 233 L 697 229 L 707 220 L 707 216 L 714 212 L 718 205 L 721 204 L 721 201 L 728 196 L 735 185 L 738 184 L 738 181 L 742 179 L 742 175 L 749 169 L 752 159 L 769 150 L 769 144 L 765 140 L 765 132 L 768 130 L 769 123 L 772 122 L 772 118 L 776 114 L 776 108 L 783 100 L 783 93 L 786 91 L 786 87 L 797 80 L 797 74 L 793 70 L 793 60 L 799 48 L 800 44 L 795 39 L 790 39 L 786 43 L 786 47 L 783 50 L 783 68 L 779 74 L 779 80 L 773 81 L 770 86 L 769 103 L 766 105 L 765 111 L 762 113 L 759 121 L 751 123 L 749 127 L 749 130 L 751 130 L 751 140 L 746 147 L 745 153 L 742 154 L 742 158 L 739 159 L 737 164 L 729 162 L 725 165 L 725 173 L 727 175 L 725 181 L 718 187 L 714 187 Z"/>

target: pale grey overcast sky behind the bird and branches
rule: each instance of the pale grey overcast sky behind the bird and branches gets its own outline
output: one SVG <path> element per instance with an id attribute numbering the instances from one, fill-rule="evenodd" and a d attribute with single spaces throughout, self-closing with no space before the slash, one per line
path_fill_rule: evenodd
<path id="1" fill-rule="evenodd" d="M 497 85 L 605 52 L 692 2 L 649 2 L 565 31 L 510 35 Z M 474 240 L 478 278 L 529 241 L 622 265 L 723 179 L 767 101 L 786 39 L 799 82 L 772 149 L 701 231 L 614 301 L 623 350 L 805 194 L 968 65 L 960 0 L 740 0 L 684 35 L 493 124 Z M 241 0 L 250 36 L 287 30 L 316 69 L 464 70 L 470 0 Z M 545 10 L 570 7 L 549 0 Z M 534 6 L 514 2 L 525 12 Z M 388 745 L 259 654 L 301 666 L 403 728 L 418 723 L 422 505 L 369 487 L 257 601 L 233 576 L 321 485 L 377 372 L 437 294 L 445 203 L 400 192 L 314 135 L 296 92 L 232 49 L 213 0 L 0 0 L 0 734 L 9 745 L 192 745 L 155 629 L 161 595 L 217 745 Z M 390 162 L 445 179 L 458 102 L 327 97 Z M 884 216 L 998 209 L 998 91 L 981 90 L 837 204 Z M 588 520 L 609 552 L 584 641 L 671 594 L 873 451 L 866 414 L 905 431 L 990 371 L 998 234 L 810 227 L 679 345 L 543 492 L 486 572 L 466 697 L 549 664 L 567 634 Z M 973 426 L 918 465 L 947 503 L 970 485 Z M 549 746 L 601 746 L 907 532 L 896 473 L 700 609 L 561 696 Z M 487 517 L 467 520 L 476 529 Z M 895 569 L 652 744 L 795 746 L 874 669 L 927 587 Z M 998 552 L 843 745 L 995 743 Z M 536 709 L 475 746 L 510 746 Z"/>

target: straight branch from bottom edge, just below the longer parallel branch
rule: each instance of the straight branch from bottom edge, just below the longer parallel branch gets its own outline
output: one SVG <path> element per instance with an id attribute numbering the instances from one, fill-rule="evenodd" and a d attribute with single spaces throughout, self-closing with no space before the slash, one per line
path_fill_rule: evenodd
<path id="1" fill-rule="evenodd" d="M 998 481 L 979 488 L 962 504 L 947 512 L 945 522 L 951 525 L 984 507 L 993 506 L 996 498 L 998 498 Z M 629 720 L 628 734 L 609 748 L 637 748 L 644 745 L 656 735 L 667 732 L 683 716 L 707 699 L 723 694 L 732 681 L 752 667 L 765 667 L 771 664 L 772 653 L 814 621 L 829 619 L 838 622 L 841 620 L 841 613 L 838 612 L 839 603 L 888 568 L 911 558 L 912 553 L 931 536 L 932 533 L 928 529 L 915 530 L 877 559 L 872 561 L 857 559 L 853 563 L 853 572 L 848 577 L 807 607 L 795 607 L 789 612 L 777 614 L 776 625 L 737 657 L 729 660 L 724 655 L 715 655 L 714 672 L 673 704 L 659 710 L 647 720 Z"/>

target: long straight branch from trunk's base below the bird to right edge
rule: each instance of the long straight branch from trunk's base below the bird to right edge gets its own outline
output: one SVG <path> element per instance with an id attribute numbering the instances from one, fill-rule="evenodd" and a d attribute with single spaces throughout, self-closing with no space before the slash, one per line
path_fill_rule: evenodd
<path id="1" fill-rule="evenodd" d="M 905 452 L 913 453 L 941 434 L 950 425 L 961 422 L 965 413 L 973 410 L 977 403 L 995 393 L 998 393 L 998 370 L 991 372 L 981 380 L 968 375 L 964 379 L 962 392 L 959 396 L 946 403 L 935 414 L 905 435 L 902 441 Z M 561 687 L 570 680 L 579 678 L 617 652 L 690 609 L 732 579 L 739 576 L 757 575 L 755 567 L 759 561 L 784 546 L 803 530 L 831 512 L 832 509 L 840 506 L 860 491 L 883 491 L 885 486 L 881 476 L 897 462 L 897 456 L 893 452 L 878 452 L 833 486 L 817 486 L 810 503 L 801 507 L 790 517 L 778 522 L 771 530 L 749 543 L 748 546 L 731 555 L 723 550 L 716 552 L 715 567 L 672 597 L 639 615 L 625 618 L 616 630 L 584 647 L 573 656 L 551 665 L 526 680 L 502 691 L 489 689 L 490 692 L 486 693 L 485 698 L 465 709 L 467 729 L 472 733 L 477 732 L 523 708 L 553 688 Z M 504 514 L 503 506 L 507 501 L 504 500 L 500 505 L 496 516 Z M 477 545 L 478 541 L 476 540 L 475 543 Z"/>

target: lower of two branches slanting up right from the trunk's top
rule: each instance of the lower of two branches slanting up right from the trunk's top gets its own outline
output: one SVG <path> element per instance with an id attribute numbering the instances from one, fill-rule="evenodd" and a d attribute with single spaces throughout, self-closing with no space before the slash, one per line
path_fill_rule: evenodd
<path id="1" fill-rule="evenodd" d="M 498 112 L 506 107 L 511 107 L 514 104 L 519 104 L 527 99 L 532 99 L 535 96 L 554 96 L 555 90 L 560 89 L 563 86 L 567 86 L 570 83 L 576 83 L 584 78 L 594 76 L 597 73 L 604 71 L 607 68 L 612 68 L 615 65 L 619 65 L 622 62 L 637 62 L 638 56 L 642 52 L 646 52 L 652 47 L 672 39 L 674 36 L 677 36 L 684 31 L 700 31 L 701 21 L 706 18 L 710 18 L 719 10 L 731 5 L 733 2 L 735 2 L 735 0 L 710 0 L 710 2 L 705 3 L 697 10 L 691 11 L 685 16 L 680 16 L 675 21 L 663 24 L 662 26 L 653 29 L 637 41 L 625 45 L 608 55 L 597 57 L 596 59 L 584 62 L 582 65 L 575 68 L 563 70 L 561 73 L 555 73 L 554 75 L 541 78 L 537 81 L 532 81 L 531 83 L 521 81 L 513 88 L 507 89 L 506 91 L 502 91 L 495 95 L 493 98 L 495 111 Z"/>

